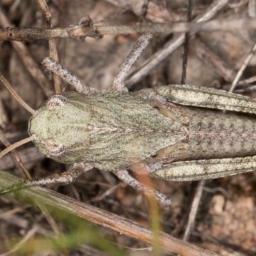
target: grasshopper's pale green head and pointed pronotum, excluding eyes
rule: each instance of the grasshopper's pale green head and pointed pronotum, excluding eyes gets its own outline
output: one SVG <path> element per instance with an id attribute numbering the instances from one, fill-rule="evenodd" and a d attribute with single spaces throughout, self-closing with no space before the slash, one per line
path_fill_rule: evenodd
<path id="1" fill-rule="evenodd" d="M 36 147 L 61 163 L 91 163 L 102 170 L 120 170 L 157 154 L 186 137 L 186 129 L 131 93 L 106 90 L 92 95 L 61 94 L 67 103 L 47 108 L 47 100 L 29 120 Z M 65 147 L 52 156 L 45 141 Z"/>

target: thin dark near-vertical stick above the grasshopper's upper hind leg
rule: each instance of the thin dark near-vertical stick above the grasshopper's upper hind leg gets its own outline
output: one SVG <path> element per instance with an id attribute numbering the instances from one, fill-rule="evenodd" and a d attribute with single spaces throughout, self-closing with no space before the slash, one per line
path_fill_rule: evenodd
<path id="1" fill-rule="evenodd" d="M 190 22 L 192 19 L 192 1 L 188 1 L 188 12 L 187 12 L 187 21 Z M 184 42 L 184 52 L 183 52 L 183 62 L 182 62 L 182 75 L 181 75 L 181 84 L 186 84 L 186 71 L 187 71 L 187 64 L 188 64 L 188 44 L 189 44 L 189 32 L 185 35 L 185 42 Z"/>

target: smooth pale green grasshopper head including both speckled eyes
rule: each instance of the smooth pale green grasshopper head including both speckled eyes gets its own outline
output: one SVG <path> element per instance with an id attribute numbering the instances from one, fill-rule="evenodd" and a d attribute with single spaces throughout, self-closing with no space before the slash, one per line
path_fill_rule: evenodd
<path id="1" fill-rule="evenodd" d="M 36 136 L 38 150 L 61 163 L 79 162 L 89 138 L 90 105 L 83 95 L 66 92 L 53 95 L 29 120 L 28 132 Z"/>

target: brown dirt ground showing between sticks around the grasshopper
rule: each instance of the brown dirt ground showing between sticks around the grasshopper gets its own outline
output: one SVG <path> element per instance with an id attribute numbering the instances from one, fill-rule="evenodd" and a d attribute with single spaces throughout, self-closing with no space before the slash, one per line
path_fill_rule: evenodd
<path id="1" fill-rule="evenodd" d="M 193 2 L 195 3 L 193 3 L 192 19 L 195 19 L 206 12 L 211 1 Z M 168 0 L 56 0 L 47 1 L 47 4 L 52 13 L 53 27 L 77 24 L 84 15 L 90 15 L 95 26 L 131 26 L 138 22 L 179 22 L 186 20 L 188 11 L 187 1 Z M 253 18 L 256 17 L 255 6 L 255 1 L 230 1 L 213 19 Z M 44 28 L 46 26 L 44 15 L 36 1 L 1 0 L 0 8 L 12 23 L 10 27 Z M 0 17 L 0 28 L 6 28 L 3 25 L 3 17 Z M 255 30 L 240 28 L 232 31 L 201 31 L 190 35 L 186 84 L 229 90 L 237 71 L 255 44 Z M 118 68 L 131 51 L 138 36 L 139 33 L 129 35 L 116 33 L 104 35 L 101 39 L 87 37 L 85 42 L 79 38 L 57 38 L 60 63 L 87 86 L 97 90 L 107 89 L 111 86 Z M 172 38 L 173 34 L 154 34 L 151 44 L 134 64 L 132 70 L 136 70 L 143 61 L 163 49 L 164 44 Z M 38 63 L 38 68 L 42 70 L 49 93 L 53 93 L 53 82 L 49 80 L 49 74 L 41 64 L 42 60 L 49 56 L 48 41 L 29 40 L 23 42 L 23 45 Z M 147 76 L 133 84 L 129 90 L 134 92 L 163 84 L 180 84 L 182 52 L 184 52 L 183 44 L 150 70 Z M 20 97 L 31 108 L 36 109 L 43 100 L 47 99 L 47 93 L 38 86 L 35 77 L 29 74 L 23 58 L 26 58 L 26 54 L 20 53 L 11 42 L 0 41 L 0 71 Z M 253 56 L 239 81 L 250 77 L 252 79 L 237 85 L 236 89 L 239 89 L 239 93 L 255 97 L 253 91 L 256 81 L 255 77 L 253 80 L 255 73 L 256 56 Z M 64 90 L 70 90 L 67 83 L 63 82 L 63 85 Z M 13 99 L 3 84 L 0 84 L 0 100 L 0 125 L 8 140 L 14 143 L 26 138 L 30 117 L 28 111 Z M 252 118 L 255 117 L 252 115 Z M 1 148 L 4 146 L 2 145 Z M 58 175 L 68 168 L 51 159 L 45 159 L 33 143 L 20 147 L 18 152 L 34 178 Z M 17 164 L 11 156 L 0 159 L 0 168 L 20 175 Z M 67 186 L 54 184 L 47 188 L 140 224 L 149 225 L 150 216 L 143 194 L 124 184 L 116 186 L 119 183 L 120 181 L 111 173 L 93 169 L 84 173 L 74 184 Z M 159 191 L 172 198 L 170 207 L 161 208 L 160 221 L 163 232 L 182 239 L 198 182 L 154 180 L 154 184 Z M 99 199 L 102 193 L 113 186 L 116 186 L 116 189 L 110 195 L 101 196 Z M 256 255 L 255 198 L 255 172 L 207 180 L 189 243 L 225 256 Z M 71 229 L 58 218 L 56 223 L 61 232 Z M 4 254 L 6 252 L 10 252 L 9 255 L 106 255 L 99 246 L 93 247 L 87 243 L 80 243 L 76 248 L 58 250 L 58 252 L 46 249 L 45 251 L 36 251 L 36 249 L 26 251 L 24 248 L 12 252 L 15 244 L 26 237 L 35 224 L 45 230 L 45 237 L 52 234 L 49 223 L 38 208 L 32 208 L 29 204 L 20 202 L 19 198 L 13 198 L 12 195 L 0 196 L 0 255 L 7 255 Z M 127 255 L 151 255 L 150 244 L 122 236 L 108 228 L 99 226 L 97 228 L 100 234 L 106 235 L 113 243 L 118 244 L 118 248 L 122 248 Z M 35 232 L 29 239 L 36 239 L 39 234 Z M 161 255 L 173 254 L 163 251 Z"/>

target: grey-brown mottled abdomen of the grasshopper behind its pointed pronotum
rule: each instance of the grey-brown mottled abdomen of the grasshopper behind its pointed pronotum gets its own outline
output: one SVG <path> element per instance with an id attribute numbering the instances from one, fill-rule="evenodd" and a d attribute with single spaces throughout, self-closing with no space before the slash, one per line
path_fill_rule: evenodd
<path id="1" fill-rule="evenodd" d="M 188 137 L 173 148 L 173 161 L 244 157 L 256 154 L 256 119 L 211 109 L 176 106 L 173 115 Z"/>

